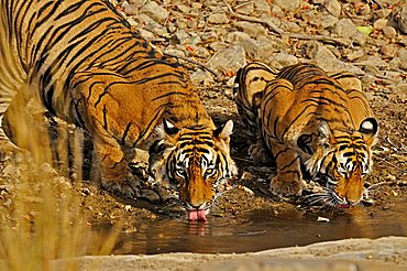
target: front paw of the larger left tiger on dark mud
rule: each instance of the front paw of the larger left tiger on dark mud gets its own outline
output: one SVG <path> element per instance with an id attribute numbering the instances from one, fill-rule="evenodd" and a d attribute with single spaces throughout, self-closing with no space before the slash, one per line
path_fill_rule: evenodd
<path id="1" fill-rule="evenodd" d="M 136 198 L 142 195 L 140 180 L 135 176 L 129 175 L 124 180 L 112 181 L 101 178 L 101 186 L 117 195 L 122 195 L 129 198 Z"/>

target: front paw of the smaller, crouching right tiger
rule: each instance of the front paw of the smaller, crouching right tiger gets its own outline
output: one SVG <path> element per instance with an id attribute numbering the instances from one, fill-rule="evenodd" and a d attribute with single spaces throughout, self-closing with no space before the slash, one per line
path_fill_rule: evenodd
<path id="1" fill-rule="evenodd" d="M 295 173 L 277 174 L 272 178 L 270 189 L 275 195 L 299 196 L 302 192 L 302 181 Z"/>

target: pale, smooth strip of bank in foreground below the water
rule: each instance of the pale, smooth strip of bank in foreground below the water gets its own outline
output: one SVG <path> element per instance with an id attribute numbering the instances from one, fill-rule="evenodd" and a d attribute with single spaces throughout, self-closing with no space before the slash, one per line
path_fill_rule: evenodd
<path id="1" fill-rule="evenodd" d="M 61 261 L 55 261 L 58 265 Z M 407 238 L 345 239 L 248 253 L 82 257 L 79 270 L 406 270 Z"/>

